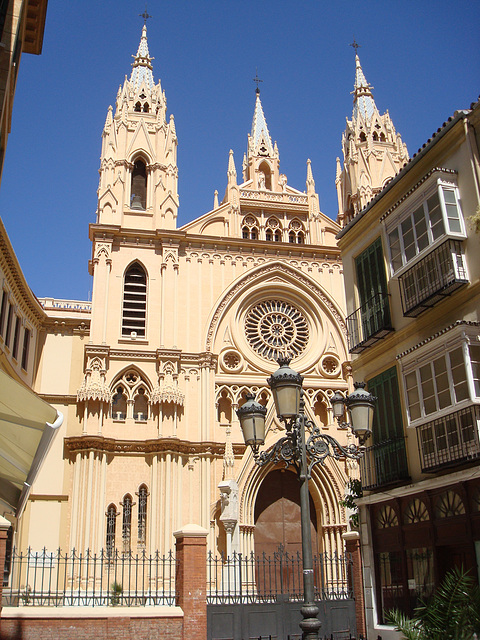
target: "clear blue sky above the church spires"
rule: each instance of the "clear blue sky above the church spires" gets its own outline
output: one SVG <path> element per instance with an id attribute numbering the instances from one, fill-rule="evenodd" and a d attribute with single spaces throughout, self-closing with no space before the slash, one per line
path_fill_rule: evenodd
<path id="1" fill-rule="evenodd" d="M 130 75 L 143 21 L 136 0 L 49 0 L 43 52 L 24 55 L 0 187 L 0 214 L 37 296 L 87 299 L 101 133 Z M 335 159 L 351 117 L 353 38 L 380 112 L 410 155 L 480 91 L 480 3 L 457 0 L 150 0 L 154 78 L 175 116 L 179 226 L 220 199 L 228 151 L 241 175 L 258 67 L 281 171 L 337 214 Z"/>

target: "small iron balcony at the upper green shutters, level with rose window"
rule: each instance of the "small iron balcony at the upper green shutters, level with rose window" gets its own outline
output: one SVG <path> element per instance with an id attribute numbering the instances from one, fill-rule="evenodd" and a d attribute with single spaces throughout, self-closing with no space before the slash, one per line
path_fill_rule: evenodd
<path id="1" fill-rule="evenodd" d="M 393 331 L 388 295 L 377 293 L 365 304 L 347 316 L 348 348 L 350 353 L 364 349 L 382 340 Z"/>

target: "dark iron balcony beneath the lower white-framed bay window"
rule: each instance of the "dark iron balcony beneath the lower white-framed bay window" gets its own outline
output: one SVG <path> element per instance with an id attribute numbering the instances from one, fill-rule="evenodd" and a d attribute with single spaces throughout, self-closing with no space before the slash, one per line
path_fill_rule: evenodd
<path id="1" fill-rule="evenodd" d="M 417 427 L 424 473 L 480 458 L 480 406 L 472 405 Z"/>

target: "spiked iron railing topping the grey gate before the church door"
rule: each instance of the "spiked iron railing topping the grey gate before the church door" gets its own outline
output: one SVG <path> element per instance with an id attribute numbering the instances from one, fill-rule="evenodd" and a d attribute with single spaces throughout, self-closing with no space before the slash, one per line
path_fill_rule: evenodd
<path id="1" fill-rule="evenodd" d="M 321 553 L 313 564 L 315 599 L 353 598 L 352 558 Z M 283 547 L 273 553 L 228 558 L 209 554 L 207 558 L 207 602 L 209 604 L 254 604 L 262 602 L 302 601 L 303 565 L 300 553 L 288 553 Z"/>

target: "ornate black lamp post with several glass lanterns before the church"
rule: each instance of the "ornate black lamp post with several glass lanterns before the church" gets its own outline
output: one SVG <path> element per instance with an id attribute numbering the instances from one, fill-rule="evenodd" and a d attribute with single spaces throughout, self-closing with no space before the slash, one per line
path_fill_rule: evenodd
<path id="1" fill-rule="evenodd" d="M 295 467 L 300 482 L 300 514 L 303 557 L 303 620 L 300 627 L 303 640 L 318 640 L 321 622 L 318 619 L 318 607 L 315 604 L 312 535 L 310 530 L 310 501 L 308 481 L 316 464 L 325 464 L 327 457 L 342 457 L 358 460 L 363 455 L 363 446 L 354 444 L 342 446 L 332 436 L 321 433 L 320 429 L 305 418 L 303 403 L 303 376 L 290 368 L 290 359 L 278 359 L 280 368 L 267 380 L 275 401 L 280 420 L 285 424 L 286 435 L 280 438 L 267 451 L 259 451 L 265 442 L 266 408 L 255 401 L 253 395 L 238 410 L 237 415 L 243 431 L 245 443 L 252 448 L 256 464 L 264 466 L 281 462 L 286 467 Z M 376 398 L 364 390 L 363 383 L 355 384 L 355 391 L 347 398 L 336 393 L 332 398 L 334 416 L 340 420 L 345 407 L 350 414 L 352 432 L 363 445 L 371 433 L 373 408 Z M 346 423 L 343 423 L 346 424 Z M 306 428 L 309 430 L 308 439 Z"/>

